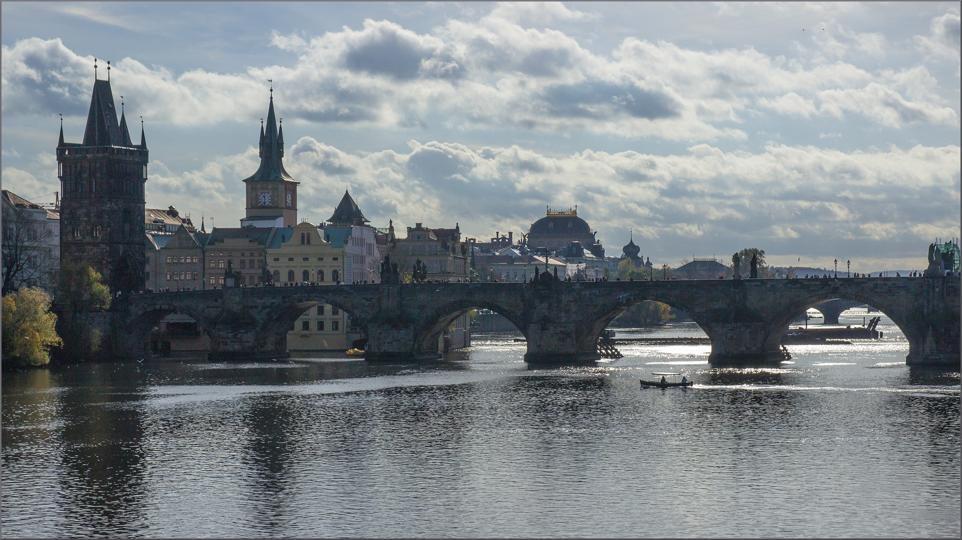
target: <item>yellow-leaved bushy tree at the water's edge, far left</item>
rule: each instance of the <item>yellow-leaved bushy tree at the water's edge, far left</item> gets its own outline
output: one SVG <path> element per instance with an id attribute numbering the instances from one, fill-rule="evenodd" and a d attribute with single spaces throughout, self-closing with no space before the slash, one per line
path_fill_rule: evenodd
<path id="1" fill-rule="evenodd" d="M 50 347 L 63 343 L 50 302 L 50 295 L 37 287 L 3 297 L 4 364 L 44 366 L 50 362 Z"/>

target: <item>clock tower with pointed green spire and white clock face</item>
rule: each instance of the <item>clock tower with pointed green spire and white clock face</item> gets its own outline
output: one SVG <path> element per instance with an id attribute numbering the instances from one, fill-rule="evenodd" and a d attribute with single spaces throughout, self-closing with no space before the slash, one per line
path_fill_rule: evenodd
<path id="1" fill-rule="evenodd" d="M 284 157 L 284 126 L 274 117 L 274 90 L 270 90 L 267 123 L 261 124 L 261 167 L 246 178 L 247 217 L 241 226 L 286 227 L 297 224 L 297 185 L 281 158 Z"/>

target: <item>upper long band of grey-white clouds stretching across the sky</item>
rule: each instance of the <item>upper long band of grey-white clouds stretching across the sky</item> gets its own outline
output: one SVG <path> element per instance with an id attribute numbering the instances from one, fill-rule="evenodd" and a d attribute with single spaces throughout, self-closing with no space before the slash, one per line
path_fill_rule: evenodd
<path id="1" fill-rule="evenodd" d="M 355 128 L 412 128 L 433 117 L 463 129 L 738 141 L 747 134 L 737 124 L 759 114 L 752 107 L 786 117 L 856 114 L 897 128 L 958 122 L 938 97 L 938 82 L 918 66 L 871 73 L 751 47 L 698 51 L 637 38 L 623 39 L 606 56 L 563 32 L 525 26 L 592 16 L 561 4 L 505 4 L 477 20 L 448 19 L 426 34 L 367 19 L 359 30 L 319 37 L 274 34 L 275 47 L 298 54 L 292 65 L 175 74 L 123 59 L 114 89 L 148 120 L 182 125 L 259 117 L 264 79 L 275 81 L 289 119 Z M 933 36 L 950 39 L 950 25 L 933 22 Z M 828 38 L 863 52 L 885 42 L 841 27 Z M 824 39 L 823 50 L 835 46 Z M 91 61 L 59 39 L 4 46 L 4 114 L 84 115 Z"/>

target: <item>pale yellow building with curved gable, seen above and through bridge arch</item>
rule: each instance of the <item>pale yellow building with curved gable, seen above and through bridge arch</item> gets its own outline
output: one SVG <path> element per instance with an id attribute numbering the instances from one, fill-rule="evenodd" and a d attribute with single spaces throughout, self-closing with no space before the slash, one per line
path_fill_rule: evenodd
<path id="1" fill-rule="evenodd" d="M 325 242 L 316 225 L 303 222 L 278 229 L 267 246 L 267 270 L 276 286 L 294 283 L 337 285 L 344 275 L 344 246 Z M 351 330 L 354 331 L 351 331 Z M 346 350 L 363 338 L 337 307 L 312 307 L 294 321 L 288 350 Z"/>

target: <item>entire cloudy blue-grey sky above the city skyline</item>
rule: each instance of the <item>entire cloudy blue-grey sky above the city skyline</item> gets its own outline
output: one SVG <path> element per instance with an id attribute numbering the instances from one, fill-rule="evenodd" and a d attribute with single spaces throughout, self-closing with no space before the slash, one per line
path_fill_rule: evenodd
<path id="1" fill-rule="evenodd" d="M 147 206 L 239 226 L 274 81 L 300 218 L 518 236 L 578 207 L 608 255 L 744 247 L 924 268 L 959 236 L 959 9 L 901 4 L 4 2 L 3 187 L 59 190 L 93 59 L 143 116 Z M 135 130 L 132 122 L 132 131 Z M 52 200 L 52 195 L 38 200 Z"/>

